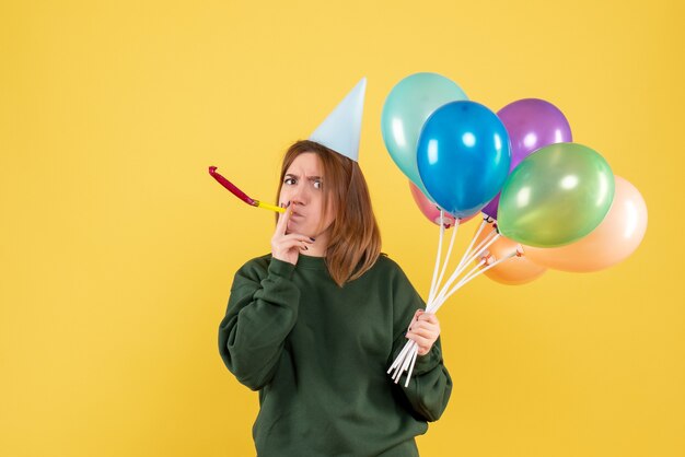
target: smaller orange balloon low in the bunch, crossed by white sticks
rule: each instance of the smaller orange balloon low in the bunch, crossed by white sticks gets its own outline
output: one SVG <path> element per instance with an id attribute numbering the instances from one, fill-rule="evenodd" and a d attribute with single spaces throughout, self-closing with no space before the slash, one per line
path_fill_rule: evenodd
<path id="1" fill-rule="evenodd" d="M 483 228 L 483 232 L 480 232 L 480 235 L 478 235 L 474 247 L 478 246 L 480 242 L 492 233 L 494 230 L 495 224 L 487 224 Z M 514 256 L 509 260 L 502 261 L 497 267 L 490 268 L 484 274 L 492 281 L 497 281 L 502 284 L 518 285 L 531 282 L 547 271 L 547 268 L 533 263 L 531 260 L 525 258 L 525 256 L 522 255 L 521 245 L 519 243 L 502 235 L 500 235 L 497 241 L 495 241 L 495 243 L 487 248 L 480 258 L 476 259 L 476 262 L 479 262 L 483 258 L 485 258 L 486 263 L 481 267 L 483 269 L 488 265 L 491 265 L 492 262 L 508 257 L 516 251 L 519 251 L 519 256 Z"/>

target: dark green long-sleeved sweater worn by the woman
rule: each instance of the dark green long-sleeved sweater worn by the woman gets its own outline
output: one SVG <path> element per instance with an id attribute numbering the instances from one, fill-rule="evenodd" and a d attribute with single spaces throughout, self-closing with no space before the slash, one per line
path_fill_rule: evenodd
<path id="1" fill-rule="evenodd" d="M 386 373 L 425 303 L 385 255 L 339 288 L 325 259 L 297 267 L 270 255 L 235 274 L 219 352 L 259 390 L 259 457 L 418 456 L 415 436 L 440 418 L 452 379 L 440 339 L 417 358 L 409 387 Z"/>

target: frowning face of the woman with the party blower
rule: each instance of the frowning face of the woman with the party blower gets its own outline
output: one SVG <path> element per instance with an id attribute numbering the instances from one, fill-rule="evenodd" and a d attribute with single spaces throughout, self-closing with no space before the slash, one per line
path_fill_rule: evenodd
<path id="1" fill-rule="evenodd" d="M 298 155 L 286 171 L 279 198 L 282 204 L 288 204 L 289 201 L 294 204 L 287 233 L 299 233 L 313 238 L 327 234 L 335 211 L 329 204 L 328 214 L 323 214 L 324 185 L 318 156 L 313 152 Z"/>

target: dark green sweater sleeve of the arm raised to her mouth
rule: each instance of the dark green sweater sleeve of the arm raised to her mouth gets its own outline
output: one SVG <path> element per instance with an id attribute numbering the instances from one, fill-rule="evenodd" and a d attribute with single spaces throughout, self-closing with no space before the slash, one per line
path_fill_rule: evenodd
<path id="1" fill-rule="evenodd" d="M 266 261 L 266 271 L 252 260 L 235 273 L 225 317 L 219 326 L 223 363 L 253 390 L 267 385 L 274 376 L 300 303 L 300 290 L 291 281 L 294 265 L 274 258 Z"/>

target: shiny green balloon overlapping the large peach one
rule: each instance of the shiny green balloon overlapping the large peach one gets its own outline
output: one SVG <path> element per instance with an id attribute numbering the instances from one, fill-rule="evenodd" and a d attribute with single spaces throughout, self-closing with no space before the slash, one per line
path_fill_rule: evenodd
<path id="1" fill-rule="evenodd" d="M 498 226 L 529 246 L 557 247 L 590 234 L 614 201 L 614 174 L 592 149 L 556 143 L 525 157 L 502 187 Z"/>

